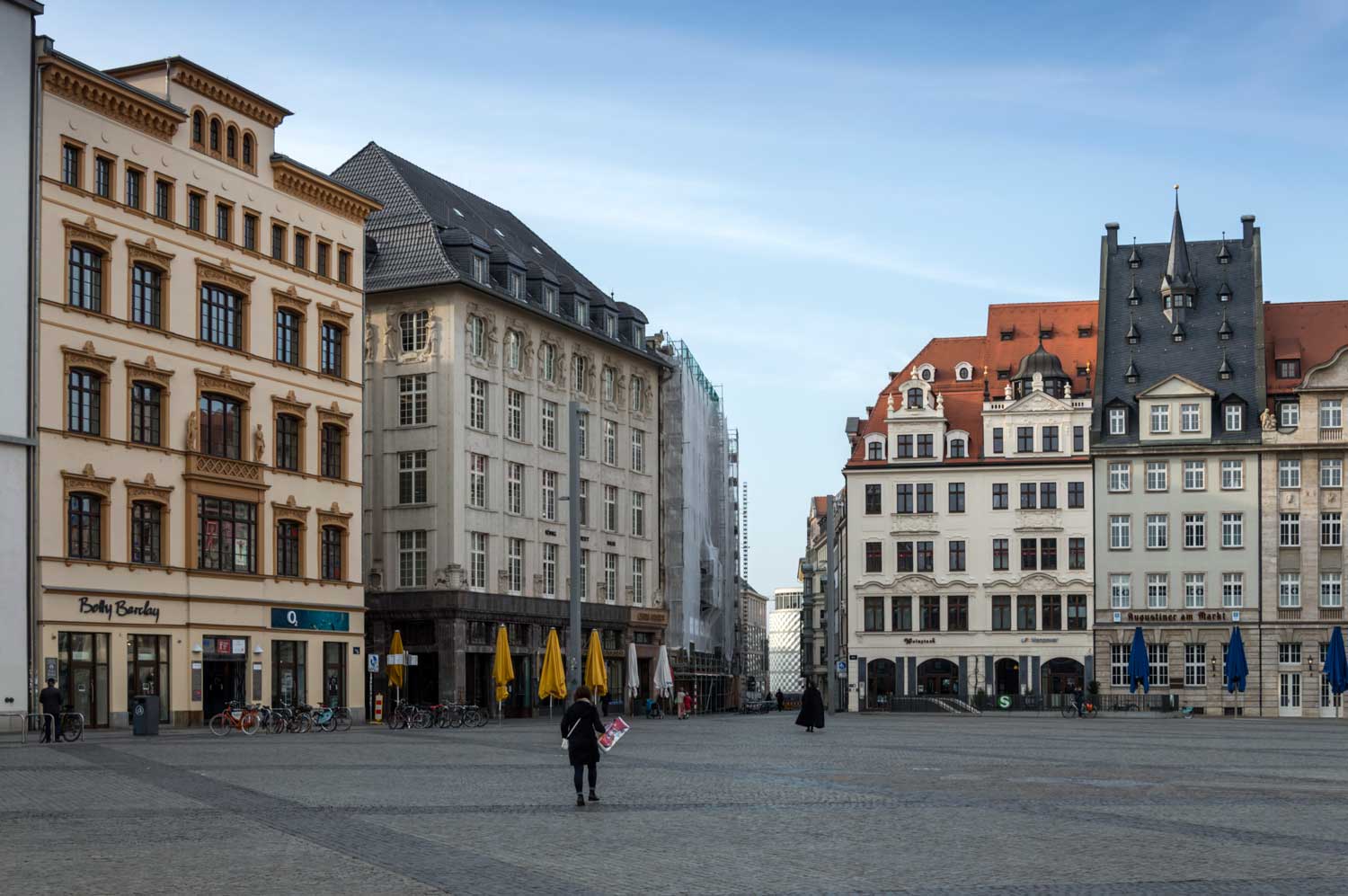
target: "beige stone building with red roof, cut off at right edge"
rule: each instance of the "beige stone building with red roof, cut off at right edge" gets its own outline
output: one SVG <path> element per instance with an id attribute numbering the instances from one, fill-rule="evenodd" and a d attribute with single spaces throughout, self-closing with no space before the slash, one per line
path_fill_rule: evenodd
<path id="1" fill-rule="evenodd" d="M 1322 668 L 1344 618 L 1348 302 L 1266 305 L 1264 331 L 1262 632 L 1247 647 L 1251 684 L 1264 715 L 1335 717 L 1341 698 Z"/>

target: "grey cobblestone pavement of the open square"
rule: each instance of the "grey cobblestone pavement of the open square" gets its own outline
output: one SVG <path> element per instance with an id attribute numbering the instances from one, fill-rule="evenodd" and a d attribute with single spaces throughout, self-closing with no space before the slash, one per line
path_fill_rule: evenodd
<path id="1" fill-rule="evenodd" d="M 1348 892 L 1348 721 L 636 719 L 0 748 L 7 893 Z"/>

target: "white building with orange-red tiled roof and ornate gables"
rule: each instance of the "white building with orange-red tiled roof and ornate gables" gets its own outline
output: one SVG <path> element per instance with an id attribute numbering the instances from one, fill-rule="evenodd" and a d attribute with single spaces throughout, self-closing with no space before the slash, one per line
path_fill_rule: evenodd
<path id="1" fill-rule="evenodd" d="M 848 422 L 852 709 L 1089 680 L 1095 353 L 1095 302 L 995 305 Z"/>

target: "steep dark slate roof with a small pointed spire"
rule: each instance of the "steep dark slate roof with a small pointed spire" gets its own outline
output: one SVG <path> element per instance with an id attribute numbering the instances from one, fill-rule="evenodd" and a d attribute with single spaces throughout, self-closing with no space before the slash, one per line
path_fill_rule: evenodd
<path id="1" fill-rule="evenodd" d="M 1217 402 L 1240 399 L 1252 410 L 1246 415 L 1243 433 L 1225 433 L 1215 426 L 1215 442 L 1259 441 L 1258 412 L 1264 399 L 1260 352 L 1263 295 L 1259 286 L 1259 229 L 1252 224 L 1250 229 L 1248 244 L 1244 240 L 1227 240 L 1223 244 L 1220 238 L 1186 243 L 1177 210 L 1171 224 L 1173 240 L 1177 243 L 1174 251 L 1171 243 L 1139 243 L 1136 248 L 1120 245 L 1111 251 L 1109 237 L 1103 237 L 1093 443 L 1101 447 L 1138 445 L 1138 393 L 1174 375 L 1212 389 Z M 1228 264 L 1219 260 L 1223 245 L 1231 256 Z M 1136 269 L 1128 267 L 1134 252 L 1142 260 Z M 1178 257 L 1173 257 L 1177 252 Z M 1171 264 L 1175 267 L 1171 268 Z M 1184 313 L 1185 338 L 1175 342 L 1171 335 L 1174 323 L 1165 315 L 1161 286 L 1166 274 L 1178 278 L 1185 272 L 1197 291 L 1193 307 Z M 1128 302 L 1134 280 L 1140 296 L 1136 306 Z M 1223 283 L 1231 288 L 1229 302 L 1217 300 Z M 1224 319 L 1233 330 L 1232 338 L 1225 341 L 1217 335 Z M 1126 335 L 1134 322 L 1140 331 L 1140 341 L 1130 346 Z M 1140 376 L 1138 383 L 1128 383 L 1126 372 L 1134 358 Z M 1224 360 L 1232 371 L 1229 380 L 1217 375 Z M 1104 407 L 1109 404 L 1130 408 L 1132 419 L 1127 435 L 1109 435 L 1104 426 Z M 1212 419 L 1216 422 L 1219 418 Z"/>

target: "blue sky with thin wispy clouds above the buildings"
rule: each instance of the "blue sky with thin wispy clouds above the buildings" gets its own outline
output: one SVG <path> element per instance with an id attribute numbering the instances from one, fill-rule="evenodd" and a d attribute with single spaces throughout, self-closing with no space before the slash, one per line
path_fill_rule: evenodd
<path id="1" fill-rule="evenodd" d="M 1340 3 L 53 0 L 38 28 L 237 81 L 325 171 L 375 140 L 686 341 L 763 593 L 888 371 L 989 303 L 1096 298 L 1105 221 L 1169 238 L 1174 183 L 1192 240 L 1258 216 L 1266 299 L 1348 298 Z"/>

